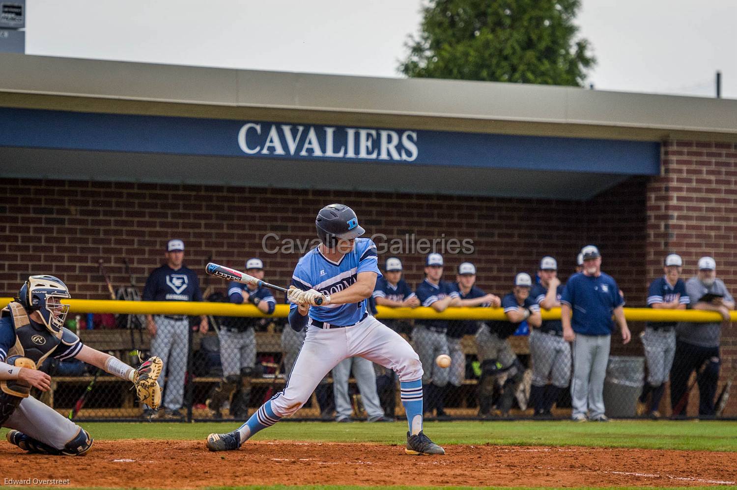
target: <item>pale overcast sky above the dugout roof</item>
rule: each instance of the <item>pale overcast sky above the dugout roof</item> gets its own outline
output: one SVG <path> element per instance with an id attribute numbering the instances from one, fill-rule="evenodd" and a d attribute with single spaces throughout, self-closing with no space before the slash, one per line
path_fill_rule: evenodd
<path id="1" fill-rule="evenodd" d="M 26 52 L 399 77 L 420 0 L 27 0 Z M 737 1 L 583 0 L 600 90 L 737 98 Z"/>

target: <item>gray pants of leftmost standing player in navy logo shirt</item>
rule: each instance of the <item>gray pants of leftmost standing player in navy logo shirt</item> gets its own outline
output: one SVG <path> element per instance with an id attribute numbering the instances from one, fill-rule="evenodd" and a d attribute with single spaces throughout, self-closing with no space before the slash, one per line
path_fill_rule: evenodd
<path id="1" fill-rule="evenodd" d="M 151 339 L 151 355 L 161 357 L 164 368 L 158 377 L 158 385 L 164 390 L 164 373 L 167 373 L 167 389 L 164 390 L 164 407 L 179 410 L 184 400 L 184 372 L 186 371 L 187 335 L 189 320 L 174 320 L 156 315 L 156 336 Z M 167 372 L 168 371 L 168 372 Z"/>

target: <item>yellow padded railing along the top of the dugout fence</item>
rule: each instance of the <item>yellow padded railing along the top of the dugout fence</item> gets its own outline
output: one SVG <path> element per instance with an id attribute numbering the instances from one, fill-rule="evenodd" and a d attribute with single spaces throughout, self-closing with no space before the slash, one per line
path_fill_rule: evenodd
<path id="1" fill-rule="evenodd" d="M 0 307 L 5 307 L 13 298 L 0 298 Z M 113 301 L 101 299 L 70 299 L 63 301 L 70 306 L 71 313 L 125 313 L 144 315 L 218 315 L 284 318 L 289 314 L 286 304 L 276 305 L 273 315 L 265 315 L 252 304 L 230 304 L 185 301 Z M 377 318 L 416 318 L 422 320 L 506 320 L 501 308 L 448 308 L 439 313 L 429 307 L 387 308 L 378 307 Z M 717 312 L 696 309 L 652 309 L 625 308 L 629 321 L 693 321 L 699 323 L 722 321 Z M 731 320 L 737 321 L 737 311 L 731 312 Z M 542 311 L 543 320 L 560 318 L 560 308 Z"/>

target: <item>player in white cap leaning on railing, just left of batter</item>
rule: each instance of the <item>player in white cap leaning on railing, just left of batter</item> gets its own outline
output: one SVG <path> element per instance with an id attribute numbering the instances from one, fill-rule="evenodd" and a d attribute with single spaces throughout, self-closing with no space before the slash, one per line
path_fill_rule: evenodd
<path id="1" fill-rule="evenodd" d="M 263 280 L 264 263 L 254 257 L 245 262 L 245 273 Z M 262 313 L 271 315 L 276 307 L 276 299 L 265 287 L 256 284 L 228 284 L 228 299 L 234 304 L 251 303 Z M 248 402 L 251 401 L 251 379 L 260 377 L 256 368 L 256 333 L 254 326 L 262 318 L 227 317 L 217 332 L 220 339 L 220 362 L 223 364 L 223 380 L 215 388 L 207 407 L 220 419 L 220 407 L 230 403 L 230 414 L 236 419 L 248 417 Z M 260 365 L 259 365 L 260 368 Z M 231 401 L 232 396 L 232 401 Z"/>

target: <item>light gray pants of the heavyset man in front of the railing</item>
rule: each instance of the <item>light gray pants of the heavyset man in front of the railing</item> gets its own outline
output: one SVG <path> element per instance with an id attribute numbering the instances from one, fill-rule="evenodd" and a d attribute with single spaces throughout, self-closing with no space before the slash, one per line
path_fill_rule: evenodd
<path id="1" fill-rule="evenodd" d="M 576 334 L 573 340 L 573 382 L 571 417 L 596 419 L 604 415 L 604 377 L 607 376 L 611 335 Z"/>

